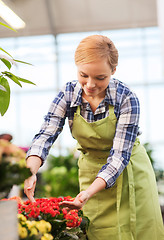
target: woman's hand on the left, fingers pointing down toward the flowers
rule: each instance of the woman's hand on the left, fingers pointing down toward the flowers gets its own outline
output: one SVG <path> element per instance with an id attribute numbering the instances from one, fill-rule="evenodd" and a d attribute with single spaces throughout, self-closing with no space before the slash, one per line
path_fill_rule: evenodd
<path id="1" fill-rule="evenodd" d="M 31 177 L 27 178 L 24 181 L 24 192 L 31 202 L 35 202 L 34 191 L 35 191 L 36 181 L 37 181 L 36 174 L 33 174 Z"/>

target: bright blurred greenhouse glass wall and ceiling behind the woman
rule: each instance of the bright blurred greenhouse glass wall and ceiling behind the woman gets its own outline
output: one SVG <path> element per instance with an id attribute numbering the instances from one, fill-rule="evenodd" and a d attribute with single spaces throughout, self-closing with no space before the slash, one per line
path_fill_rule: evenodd
<path id="1" fill-rule="evenodd" d="M 4 4 L 18 17 L 10 19 Z M 13 72 L 36 83 L 11 83 L 11 102 L 0 116 L 0 134 L 28 147 L 59 89 L 76 77 L 74 51 L 84 37 L 106 35 L 119 50 L 115 78 L 136 92 L 141 105 L 140 140 L 148 146 L 155 169 L 164 170 L 164 1 L 163 0 L 0 0 L 0 47 L 18 64 Z M 15 24 L 15 25 L 14 25 Z M 1 65 L 0 65 L 1 67 Z M 51 154 L 72 152 L 76 142 L 68 124 Z"/>

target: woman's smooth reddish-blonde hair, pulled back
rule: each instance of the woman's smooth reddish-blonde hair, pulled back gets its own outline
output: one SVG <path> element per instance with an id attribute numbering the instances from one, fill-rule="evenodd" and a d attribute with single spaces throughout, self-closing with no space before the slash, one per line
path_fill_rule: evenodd
<path id="1" fill-rule="evenodd" d="M 112 71 L 118 64 L 118 50 L 106 36 L 91 35 L 84 38 L 75 51 L 75 64 L 86 64 L 107 59 Z"/>

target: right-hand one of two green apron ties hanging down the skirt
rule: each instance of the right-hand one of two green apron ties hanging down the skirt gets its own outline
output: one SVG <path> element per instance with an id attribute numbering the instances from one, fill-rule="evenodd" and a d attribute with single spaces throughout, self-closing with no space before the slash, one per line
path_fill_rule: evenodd
<path id="1" fill-rule="evenodd" d="M 135 204 L 135 188 L 132 163 L 129 161 L 127 165 L 128 182 L 129 182 L 129 204 L 130 204 L 130 229 L 133 239 L 136 239 L 136 204 Z"/>

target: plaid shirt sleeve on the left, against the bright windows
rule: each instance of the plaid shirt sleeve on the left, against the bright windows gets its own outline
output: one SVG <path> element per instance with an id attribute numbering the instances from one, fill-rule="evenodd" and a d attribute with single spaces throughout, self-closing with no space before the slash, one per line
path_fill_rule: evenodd
<path id="1" fill-rule="evenodd" d="M 50 105 L 40 132 L 35 135 L 31 147 L 27 152 L 27 157 L 31 155 L 39 156 L 42 163 L 45 161 L 49 149 L 61 133 L 66 117 L 66 100 L 64 91 L 60 91 L 58 96 Z"/>

